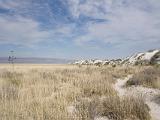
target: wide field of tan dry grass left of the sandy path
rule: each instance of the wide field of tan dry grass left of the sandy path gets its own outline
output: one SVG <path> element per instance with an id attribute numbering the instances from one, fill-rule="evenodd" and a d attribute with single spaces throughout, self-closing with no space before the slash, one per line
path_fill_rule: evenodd
<path id="1" fill-rule="evenodd" d="M 0 65 L 0 119 L 93 120 L 96 116 L 149 120 L 140 98 L 119 98 L 115 77 L 132 68 L 72 65 Z M 75 107 L 70 113 L 69 106 Z"/>

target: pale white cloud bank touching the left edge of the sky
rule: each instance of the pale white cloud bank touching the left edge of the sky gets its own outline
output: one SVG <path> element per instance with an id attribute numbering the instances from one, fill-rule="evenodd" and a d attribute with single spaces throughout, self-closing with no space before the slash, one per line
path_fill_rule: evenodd
<path id="1" fill-rule="evenodd" d="M 49 37 L 39 23 L 22 17 L 0 17 L 0 43 L 31 44 Z"/>

